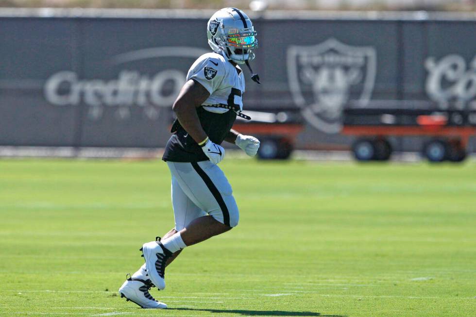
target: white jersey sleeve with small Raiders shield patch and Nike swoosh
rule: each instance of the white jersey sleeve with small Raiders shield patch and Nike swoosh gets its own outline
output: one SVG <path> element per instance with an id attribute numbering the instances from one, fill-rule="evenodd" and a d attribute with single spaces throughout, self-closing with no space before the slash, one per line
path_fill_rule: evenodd
<path id="1" fill-rule="evenodd" d="M 219 89 L 225 77 L 225 67 L 219 59 L 207 58 L 192 70 L 189 79 L 201 83 L 211 94 Z"/>

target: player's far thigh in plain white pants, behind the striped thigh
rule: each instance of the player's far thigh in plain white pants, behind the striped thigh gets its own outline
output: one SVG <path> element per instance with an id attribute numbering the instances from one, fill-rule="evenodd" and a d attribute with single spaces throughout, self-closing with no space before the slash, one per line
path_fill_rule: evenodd
<path id="1" fill-rule="evenodd" d="M 183 191 L 177 178 L 172 174 L 171 196 L 175 230 L 184 229 L 193 219 L 206 216 L 204 210 L 197 206 Z"/>

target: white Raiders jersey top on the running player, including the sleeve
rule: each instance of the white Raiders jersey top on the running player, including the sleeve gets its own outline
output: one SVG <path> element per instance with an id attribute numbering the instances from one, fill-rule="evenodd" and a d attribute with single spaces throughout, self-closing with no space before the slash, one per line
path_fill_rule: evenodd
<path id="1" fill-rule="evenodd" d="M 245 91 L 245 79 L 239 66 L 234 67 L 227 59 L 217 53 L 206 53 L 200 56 L 190 67 L 187 81 L 193 79 L 201 83 L 210 96 L 203 103 L 212 105 L 222 103 L 239 106 L 243 110 L 241 95 Z M 204 107 L 214 113 L 225 113 L 228 109 Z"/>

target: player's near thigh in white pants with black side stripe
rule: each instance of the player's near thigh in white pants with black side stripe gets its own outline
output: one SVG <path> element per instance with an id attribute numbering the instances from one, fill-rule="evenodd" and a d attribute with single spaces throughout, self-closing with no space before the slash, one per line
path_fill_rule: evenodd
<path id="1" fill-rule="evenodd" d="M 233 190 L 220 167 L 210 161 L 168 164 L 184 192 L 201 209 L 227 226 L 238 224 Z"/>

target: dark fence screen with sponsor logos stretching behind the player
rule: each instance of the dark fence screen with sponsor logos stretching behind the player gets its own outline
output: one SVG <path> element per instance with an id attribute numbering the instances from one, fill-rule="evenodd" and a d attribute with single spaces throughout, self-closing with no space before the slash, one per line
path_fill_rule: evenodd
<path id="1" fill-rule="evenodd" d="M 0 12 L 0 145 L 163 147 L 208 13 L 79 12 Z M 244 109 L 299 110 L 300 148 L 347 146 L 349 104 L 476 108 L 475 18 L 250 16 L 262 84 L 244 70 Z"/>

